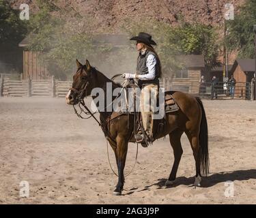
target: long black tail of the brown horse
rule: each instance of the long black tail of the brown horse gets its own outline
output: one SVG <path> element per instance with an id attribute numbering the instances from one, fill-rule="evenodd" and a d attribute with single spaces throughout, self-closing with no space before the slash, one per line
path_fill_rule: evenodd
<path id="1" fill-rule="evenodd" d="M 200 154 L 200 163 L 201 163 L 201 174 L 202 176 L 207 176 L 209 173 L 209 152 L 208 152 L 208 125 L 205 115 L 205 110 L 203 108 L 203 103 L 199 97 L 197 102 L 199 103 L 202 110 L 202 119 L 200 125 L 199 133 L 199 154 Z"/>

